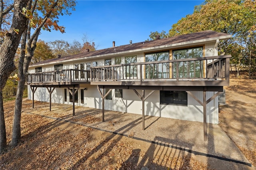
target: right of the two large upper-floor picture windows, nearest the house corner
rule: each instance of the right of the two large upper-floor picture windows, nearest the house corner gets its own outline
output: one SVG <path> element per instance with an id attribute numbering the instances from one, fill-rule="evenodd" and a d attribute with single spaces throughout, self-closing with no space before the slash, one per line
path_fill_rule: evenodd
<path id="1" fill-rule="evenodd" d="M 203 57 L 203 47 L 179 49 L 172 51 L 173 59 L 199 58 Z M 173 63 L 173 77 L 176 78 L 176 63 Z M 202 61 L 186 61 L 178 63 L 178 77 L 180 78 L 200 78 L 203 75 Z"/>

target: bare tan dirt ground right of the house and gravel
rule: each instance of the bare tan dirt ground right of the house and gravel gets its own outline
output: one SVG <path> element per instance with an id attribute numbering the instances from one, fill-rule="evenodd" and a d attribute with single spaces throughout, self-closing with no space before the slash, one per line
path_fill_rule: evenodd
<path id="1" fill-rule="evenodd" d="M 219 126 L 256 167 L 256 79 L 230 75 L 226 104 L 219 107 Z"/>

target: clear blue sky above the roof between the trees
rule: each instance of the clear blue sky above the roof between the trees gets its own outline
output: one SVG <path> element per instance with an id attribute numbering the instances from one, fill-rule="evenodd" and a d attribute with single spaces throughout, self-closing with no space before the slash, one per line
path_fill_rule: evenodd
<path id="1" fill-rule="evenodd" d="M 64 40 L 82 43 L 84 34 L 95 42 L 97 49 L 143 42 L 150 32 L 166 33 L 173 24 L 187 14 L 192 14 L 194 6 L 202 0 L 158 0 L 158 1 L 87 1 L 78 0 L 76 10 L 70 16 L 61 16 L 59 25 L 64 26 L 64 34 L 56 31 L 41 31 L 39 39 L 46 42 Z"/>

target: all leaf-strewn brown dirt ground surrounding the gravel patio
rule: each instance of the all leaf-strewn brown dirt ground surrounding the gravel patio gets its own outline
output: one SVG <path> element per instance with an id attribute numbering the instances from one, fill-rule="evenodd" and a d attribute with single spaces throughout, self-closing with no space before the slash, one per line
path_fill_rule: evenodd
<path id="1" fill-rule="evenodd" d="M 219 110 L 219 126 L 236 143 L 252 167 L 216 158 L 194 156 L 175 149 L 82 125 L 26 113 L 22 106 L 20 144 L 0 155 L 0 169 L 255 169 L 256 80 L 230 75 L 226 104 Z M 38 107 L 49 103 L 35 102 Z M 11 139 L 14 101 L 4 103 L 7 142 Z M 87 122 L 100 122 L 86 117 Z M 78 120 L 79 121 L 79 120 Z"/>

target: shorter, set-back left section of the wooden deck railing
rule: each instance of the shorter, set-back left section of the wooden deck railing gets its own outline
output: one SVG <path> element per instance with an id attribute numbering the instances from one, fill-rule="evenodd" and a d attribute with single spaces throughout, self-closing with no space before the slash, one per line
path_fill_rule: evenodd
<path id="1" fill-rule="evenodd" d="M 28 83 L 42 82 L 72 82 L 72 81 L 90 81 L 90 71 L 66 69 L 59 71 L 46 71 L 39 73 L 30 73 L 27 77 Z"/>

